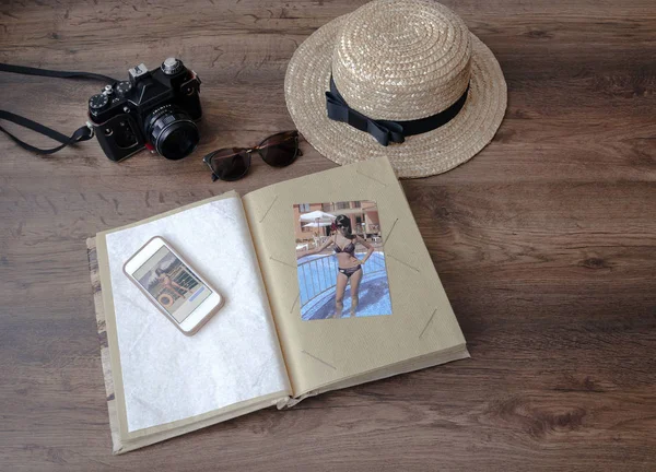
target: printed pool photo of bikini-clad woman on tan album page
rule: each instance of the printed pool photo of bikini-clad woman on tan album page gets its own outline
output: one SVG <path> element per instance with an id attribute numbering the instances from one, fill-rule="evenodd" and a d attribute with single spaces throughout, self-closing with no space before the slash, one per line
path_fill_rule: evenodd
<path id="1" fill-rule="evenodd" d="M 391 315 L 376 202 L 298 203 L 293 210 L 301 318 Z"/>

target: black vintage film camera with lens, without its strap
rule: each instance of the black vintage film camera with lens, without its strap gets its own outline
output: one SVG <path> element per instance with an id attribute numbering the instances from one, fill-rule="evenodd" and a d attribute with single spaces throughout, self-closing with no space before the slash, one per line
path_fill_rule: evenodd
<path id="1" fill-rule="evenodd" d="M 106 85 L 89 99 L 90 125 L 110 161 L 149 149 L 169 160 L 189 155 L 200 133 L 200 79 L 183 61 L 166 59 L 151 71 L 129 70 L 129 80 Z"/>

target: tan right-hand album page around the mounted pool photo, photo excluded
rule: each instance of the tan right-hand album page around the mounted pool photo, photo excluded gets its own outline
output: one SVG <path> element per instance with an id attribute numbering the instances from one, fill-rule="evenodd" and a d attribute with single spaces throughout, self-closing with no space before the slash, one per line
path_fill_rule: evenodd
<path id="1" fill-rule="evenodd" d="M 378 205 L 393 312 L 303 321 L 293 205 L 356 200 Z M 269 186 L 245 196 L 244 205 L 295 396 L 432 353 L 464 351 L 465 339 L 387 160 Z"/>

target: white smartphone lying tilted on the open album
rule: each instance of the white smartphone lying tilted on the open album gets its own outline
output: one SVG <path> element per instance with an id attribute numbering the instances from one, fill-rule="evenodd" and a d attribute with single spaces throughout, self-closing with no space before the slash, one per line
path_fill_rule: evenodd
<path id="1" fill-rule="evenodd" d="M 223 306 L 219 292 L 160 236 L 143 245 L 125 263 L 124 272 L 186 335 L 196 334 Z"/>

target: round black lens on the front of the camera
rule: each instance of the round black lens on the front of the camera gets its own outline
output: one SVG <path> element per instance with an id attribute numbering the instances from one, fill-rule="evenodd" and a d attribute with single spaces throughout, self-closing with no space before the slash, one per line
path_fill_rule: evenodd
<path id="1" fill-rule="evenodd" d="M 180 160 L 194 152 L 200 140 L 198 127 L 185 111 L 165 105 L 145 119 L 145 135 L 155 150 L 168 160 Z"/>

